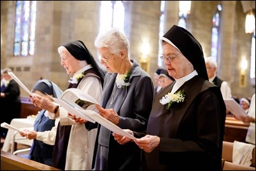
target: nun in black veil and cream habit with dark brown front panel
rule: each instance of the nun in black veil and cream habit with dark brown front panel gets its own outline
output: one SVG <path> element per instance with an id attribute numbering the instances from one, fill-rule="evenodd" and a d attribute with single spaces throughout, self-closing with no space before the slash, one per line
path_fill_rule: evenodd
<path id="1" fill-rule="evenodd" d="M 100 101 L 103 93 L 104 72 L 82 41 L 70 41 L 58 48 L 60 64 L 67 74 L 73 75 L 68 88 L 78 88 Z M 97 129 L 87 131 L 85 124 L 76 123 L 68 111 L 50 100 L 35 95 L 32 102 L 59 117 L 60 123 L 53 149 L 52 166 L 61 170 L 90 170 Z"/>

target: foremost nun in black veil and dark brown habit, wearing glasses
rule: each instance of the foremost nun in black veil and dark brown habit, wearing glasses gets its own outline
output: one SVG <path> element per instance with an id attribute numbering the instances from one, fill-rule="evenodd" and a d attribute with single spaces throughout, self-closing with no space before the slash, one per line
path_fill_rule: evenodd
<path id="1" fill-rule="evenodd" d="M 225 103 L 220 88 L 208 81 L 201 44 L 177 25 L 161 43 L 175 81 L 157 93 L 146 133 L 126 130 L 145 151 L 142 170 L 222 170 Z M 120 144 L 129 142 L 113 135 Z"/>

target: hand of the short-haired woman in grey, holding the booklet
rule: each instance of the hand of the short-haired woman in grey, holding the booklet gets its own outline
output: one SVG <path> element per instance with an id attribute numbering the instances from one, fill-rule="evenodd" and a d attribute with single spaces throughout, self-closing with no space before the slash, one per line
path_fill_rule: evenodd
<path id="1" fill-rule="evenodd" d="M 111 121 L 115 125 L 118 125 L 119 123 L 119 116 L 114 111 L 114 109 L 104 109 L 103 107 L 96 105 L 97 109 L 99 110 L 99 114 L 106 118 L 107 120 Z"/>

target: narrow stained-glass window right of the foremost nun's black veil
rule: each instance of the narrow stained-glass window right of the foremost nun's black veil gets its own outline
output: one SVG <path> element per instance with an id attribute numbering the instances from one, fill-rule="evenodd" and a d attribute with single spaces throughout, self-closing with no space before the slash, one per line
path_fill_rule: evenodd
<path id="1" fill-rule="evenodd" d="M 218 30 L 220 24 L 221 4 L 218 4 L 215 15 L 213 16 L 213 29 L 211 33 L 211 57 L 218 61 Z"/>

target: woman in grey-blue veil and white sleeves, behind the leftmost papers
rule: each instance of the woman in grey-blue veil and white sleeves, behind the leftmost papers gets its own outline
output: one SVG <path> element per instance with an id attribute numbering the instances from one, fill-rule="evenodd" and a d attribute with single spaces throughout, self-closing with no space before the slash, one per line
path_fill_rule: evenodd
<path id="1" fill-rule="evenodd" d="M 62 90 L 52 81 L 40 79 L 36 82 L 31 92 L 53 101 L 48 95 L 58 98 Z M 34 121 L 34 130 L 31 128 L 22 129 L 25 132 L 20 133 L 22 137 L 34 139 L 29 153 L 29 159 L 45 165 L 52 165 L 52 152 L 58 123 L 59 119 L 51 120 L 48 118 L 48 111 L 42 109 Z"/>

